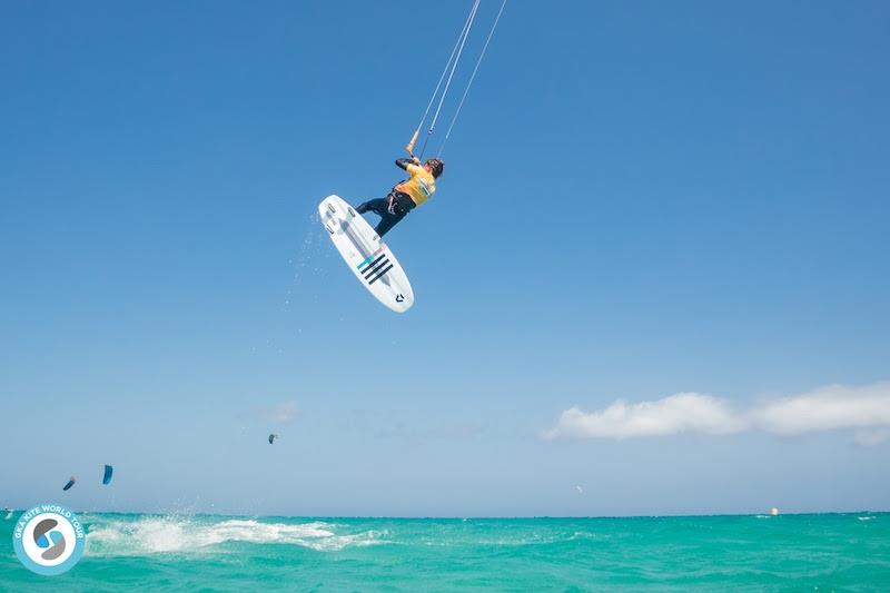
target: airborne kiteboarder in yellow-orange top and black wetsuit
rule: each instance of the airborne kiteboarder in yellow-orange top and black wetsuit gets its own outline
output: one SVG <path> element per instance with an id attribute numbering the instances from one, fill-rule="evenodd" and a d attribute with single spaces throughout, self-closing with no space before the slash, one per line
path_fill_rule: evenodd
<path id="1" fill-rule="evenodd" d="M 383 237 L 409 211 L 425 202 L 436 191 L 436 179 L 445 169 L 439 159 L 421 159 L 412 155 L 409 159 L 397 159 L 396 165 L 408 172 L 408 178 L 396 185 L 385 198 L 368 200 L 356 208 L 358 214 L 373 211 L 380 217 L 374 229 Z"/>

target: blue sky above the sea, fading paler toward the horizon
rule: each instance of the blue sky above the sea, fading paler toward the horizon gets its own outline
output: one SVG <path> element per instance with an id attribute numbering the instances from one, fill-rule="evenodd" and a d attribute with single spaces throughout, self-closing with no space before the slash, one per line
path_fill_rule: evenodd
<path id="1" fill-rule="evenodd" d="M 890 508 L 887 4 L 508 3 L 399 316 L 315 209 L 468 6 L 0 7 L 0 505 Z"/>

